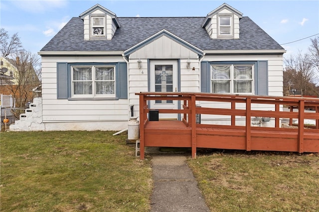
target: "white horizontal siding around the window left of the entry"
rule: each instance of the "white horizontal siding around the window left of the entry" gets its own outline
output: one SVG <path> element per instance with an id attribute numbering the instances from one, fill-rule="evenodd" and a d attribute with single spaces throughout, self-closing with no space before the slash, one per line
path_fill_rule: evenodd
<path id="1" fill-rule="evenodd" d="M 128 120 L 128 100 L 57 99 L 57 62 L 117 63 L 122 56 L 42 56 L 42 119 L 43 122 L 106 122 Z M 122 128 L 123 129 L 123 128 Z"/>

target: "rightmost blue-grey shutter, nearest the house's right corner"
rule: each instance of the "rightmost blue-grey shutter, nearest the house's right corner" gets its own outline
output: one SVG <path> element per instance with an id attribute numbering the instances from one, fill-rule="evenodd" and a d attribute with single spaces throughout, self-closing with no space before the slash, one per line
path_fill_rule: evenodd
<path id="1" fill-rule="evenodd" d="M 268 96 L 268 61 L 257 62 L 256 94 Z"/>

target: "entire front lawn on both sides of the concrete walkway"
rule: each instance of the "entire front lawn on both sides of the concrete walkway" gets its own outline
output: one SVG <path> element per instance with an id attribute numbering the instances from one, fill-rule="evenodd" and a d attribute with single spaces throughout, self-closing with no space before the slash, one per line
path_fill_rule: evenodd
<path id="1" fill-rule="evenodd" d="M 113 133 L 1 132 L 0 211 L 150 211 L 149 157 Z M 319 211 L 318 153 L 206 153 L 187 163 L 212 212 Z"/>

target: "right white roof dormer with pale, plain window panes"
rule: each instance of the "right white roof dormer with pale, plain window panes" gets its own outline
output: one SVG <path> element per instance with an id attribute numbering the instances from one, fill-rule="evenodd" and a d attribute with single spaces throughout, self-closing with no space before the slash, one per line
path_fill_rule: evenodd
<path id="1" fill-rule="evenodd" d="M 211 39 L 239 39 L 239 19 L 243 13 L 223 3 L 207 14 L 201 27 Z"/>

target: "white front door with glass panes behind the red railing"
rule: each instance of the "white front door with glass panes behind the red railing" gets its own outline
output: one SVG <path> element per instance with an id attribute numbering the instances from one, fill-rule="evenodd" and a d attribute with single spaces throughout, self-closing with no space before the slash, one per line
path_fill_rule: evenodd
<path id="1" fill-rule="evenodd" d="M 178 92 L 177 61 L 150 61 L 150 92 Z M 177 101 L 151 101 L 152 109 L 177 109 Z M 177 119 L 175 113 L 162 113 L 160 119 Z"/>

